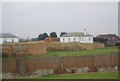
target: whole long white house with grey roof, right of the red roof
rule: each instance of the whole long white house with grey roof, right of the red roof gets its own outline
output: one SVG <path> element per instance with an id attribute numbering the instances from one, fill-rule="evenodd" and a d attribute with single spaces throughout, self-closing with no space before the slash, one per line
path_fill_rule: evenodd
<path id="1" fill-rule="evenodd" d="M 83 32 L 71 32 L 62 35 L 60 42 L 93 43 L 93 36 Z"/>

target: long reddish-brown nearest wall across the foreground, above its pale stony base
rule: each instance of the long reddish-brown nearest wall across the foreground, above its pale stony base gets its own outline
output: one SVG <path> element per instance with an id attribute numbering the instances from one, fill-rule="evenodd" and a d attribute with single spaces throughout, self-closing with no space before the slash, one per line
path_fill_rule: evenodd
<path id="1" fill-rule="evenodd" d="M 95 69 L 98 67 L 118 66 L 118 55 L 99 55 L 99 56 L 69 56 L 54 58 L 24 58 L 3 59 L 2 72 L 22 74 L 33 73 L 41 69 L 61 70 L 67 68 L 89 67 Z"/>

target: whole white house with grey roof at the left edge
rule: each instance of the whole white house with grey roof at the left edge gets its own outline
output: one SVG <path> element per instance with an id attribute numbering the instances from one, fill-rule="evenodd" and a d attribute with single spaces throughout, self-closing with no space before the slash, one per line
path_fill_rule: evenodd
<path id="1" fill-rule="evenodd" d="M 10 33 L 0 34 L 0 44 L 10 43 L 10 42 L 19 42 L 19 38 Z"/>

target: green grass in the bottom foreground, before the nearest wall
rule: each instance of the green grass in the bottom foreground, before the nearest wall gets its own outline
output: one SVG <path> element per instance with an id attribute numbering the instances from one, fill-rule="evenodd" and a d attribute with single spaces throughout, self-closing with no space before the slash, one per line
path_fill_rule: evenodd
<path id="1" fill-rule="evenodd" d="M 31 79 L 118 79 L 118 72 L 48 75 Z"/>

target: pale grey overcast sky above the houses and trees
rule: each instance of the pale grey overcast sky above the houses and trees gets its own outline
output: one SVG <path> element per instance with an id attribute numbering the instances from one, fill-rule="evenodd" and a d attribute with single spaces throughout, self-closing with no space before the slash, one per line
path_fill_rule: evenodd
<path id="1" fill-rule="evenodd" d="M 118 35 L 117 2 L 6 2 L 2 4 L 2 31 L 18 37 L 40 33 L 83 32 Z"/>

